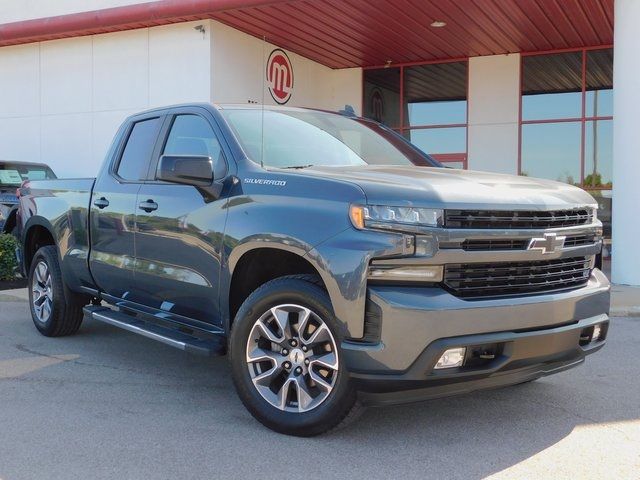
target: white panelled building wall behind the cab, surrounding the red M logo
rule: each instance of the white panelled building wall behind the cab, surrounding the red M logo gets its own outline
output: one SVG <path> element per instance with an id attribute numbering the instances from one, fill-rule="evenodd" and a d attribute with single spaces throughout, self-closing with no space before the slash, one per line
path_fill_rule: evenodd
<path id="1" fill-rule="evenodd" d="M 202 26 L 204 31 L 196 30 Z M 213 21 L 0 48 L 0 158 L 93 176 L 130 114 L 182 102 L 261 102 L 275 48 Z M 361 69 L 289 53 L 290 105 L 361 109 Z M 274 103 L 264 91 L 266 103 Z"/>

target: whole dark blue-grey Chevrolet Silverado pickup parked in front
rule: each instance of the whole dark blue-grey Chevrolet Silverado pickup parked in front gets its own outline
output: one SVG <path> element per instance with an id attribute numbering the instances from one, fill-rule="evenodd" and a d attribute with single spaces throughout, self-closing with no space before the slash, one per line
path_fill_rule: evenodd
<path id="1" fill-rule="evenodd" d="M 278 432 L 532 381 L 607 337 L 588 193 L 442 168 L 348 112 L 151 110 L 124 122 L 97 178 L 29 181 L 20 202 L 42 334 L 87 318 L 226 353 L 240 399 Z"/>

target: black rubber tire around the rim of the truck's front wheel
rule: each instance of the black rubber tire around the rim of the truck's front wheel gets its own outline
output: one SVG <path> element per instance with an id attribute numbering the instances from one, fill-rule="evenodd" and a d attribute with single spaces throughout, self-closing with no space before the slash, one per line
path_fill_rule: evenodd
<path id="1" fill-rule="evenodd" d="M 273 406 L 258 392 L 248 369 L 246 348 L 254 323 L 264 312 L 281 304 L 296 304 L 312 310 L 329 328 L 337 346 L 339 363 L 333 389 L 322 403 L 306 412 L 287 412 Z M 242 304 L 231 330 L 229 360 L 242 403 L 263 425 L 287 435 L 310 437 L 339 426 L 351 418 L 356 405 L 356 392 L 340 352 L 342 340 L 329 295 L 312 277 L 281 277 L 265 283 Z"/>

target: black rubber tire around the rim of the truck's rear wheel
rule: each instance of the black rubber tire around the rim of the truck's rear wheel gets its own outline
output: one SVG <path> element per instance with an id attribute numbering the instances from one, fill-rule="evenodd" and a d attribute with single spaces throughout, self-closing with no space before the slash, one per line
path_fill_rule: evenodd
<path id="1" fill-rule="evenodd" d="M 34 282 L 36 269 L 44 263 L 50 274 L 50 314 L 46 320 L 39 320 L 34 303 Z M 55 246 L 48 245 L 40 248 L 31 261 L 29 269 L 29 308 L 31 318 L 38 331 L 46 337 L 63 337 L 73 335 L 82 324 L 82 308 L 90 301 L 88 295 L 71 292 L 62 280 L 58 251 Z"/>

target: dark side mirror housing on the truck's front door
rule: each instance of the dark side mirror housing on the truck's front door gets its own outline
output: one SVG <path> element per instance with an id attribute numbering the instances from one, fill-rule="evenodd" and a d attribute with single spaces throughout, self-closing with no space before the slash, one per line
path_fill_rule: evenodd
<path id="1" fill-rule="evenodd" d="M 213 162 L 204 155 L 163 155 L 156 179 L 165 182 L 209 187 L 213 183 Z"/>

